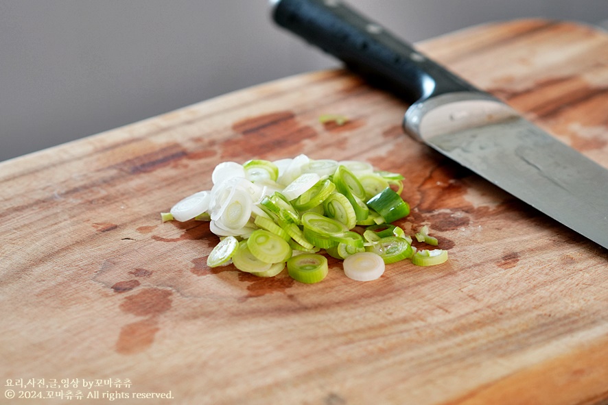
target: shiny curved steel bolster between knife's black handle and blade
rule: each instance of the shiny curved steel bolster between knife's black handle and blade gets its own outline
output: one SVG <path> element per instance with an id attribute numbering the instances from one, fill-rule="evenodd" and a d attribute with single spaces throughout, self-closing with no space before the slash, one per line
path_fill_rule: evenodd
<path id="1" fill-rule="evenodd" d="M 433 136 L 498 123 L 517 116 L 513 108 L 487 93 L 447 93 L 413 103 L 404 131 L 425 142 Z"/>

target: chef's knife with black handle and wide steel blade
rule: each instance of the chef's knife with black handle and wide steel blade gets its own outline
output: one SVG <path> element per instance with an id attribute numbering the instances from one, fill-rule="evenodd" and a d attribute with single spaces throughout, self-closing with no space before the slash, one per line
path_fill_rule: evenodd
<path id="1" fill-rule="evenodd" d="M 608 248 L 608 170 L 339 0 L 270 1 L 274 21 L 411 103 L 405 132 Z"/>

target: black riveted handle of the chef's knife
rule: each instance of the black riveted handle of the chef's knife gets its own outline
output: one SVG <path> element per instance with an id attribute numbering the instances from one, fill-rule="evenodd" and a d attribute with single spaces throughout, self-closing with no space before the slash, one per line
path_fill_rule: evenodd
<path id="1" fill-rule="evenodd" d="M 273 19 L 410 103 L 479 91 L 342 1 L 275 1 Z"/>

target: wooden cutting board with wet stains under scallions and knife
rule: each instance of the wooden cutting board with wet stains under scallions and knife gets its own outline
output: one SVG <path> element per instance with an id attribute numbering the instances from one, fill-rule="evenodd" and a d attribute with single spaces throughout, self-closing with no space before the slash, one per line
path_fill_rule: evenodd
<path id="1" fill-rule="evenodd" d="M 419 47 L 608 167 L 605 32 L 513 21 Z M 0 164 L 0 402 L 605 404 L 608 252 L 402 134 L 406 107 L 320 71 Z M 406 175 L 397 223 L 449 261 L 261 279 L 206 266 L 208 223 L 160 221 L 218 162 L 298 154 Z"/>

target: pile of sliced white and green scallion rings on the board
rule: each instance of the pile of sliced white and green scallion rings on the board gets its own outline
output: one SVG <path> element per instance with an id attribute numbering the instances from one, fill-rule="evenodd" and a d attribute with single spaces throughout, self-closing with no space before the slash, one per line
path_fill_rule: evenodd
<path id="1" fill-rule="evenodd" d="M 410 206 L 400 194 L 404 177 L 375 170 L 355 160 L 312 160 L 305 155 L 275 160 L 223 162 L 211 176 L 211 190 L 179 201 L 163 221 L 210 221 L 220 237 L 207 265 L 272 277 L 287 267 L 299 282 L 327 275 L 327 258 L 344 260 L 344 274 L 369 281 L 384 266 L 409 259 L 414 265 L 439 265 L 442 249 L 417 250 L 412 237 L 393 221 L 407 217 Z M 414 237 L 438 245 L 422 227 Z"/>

